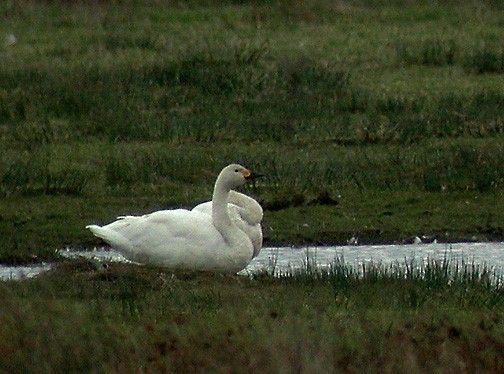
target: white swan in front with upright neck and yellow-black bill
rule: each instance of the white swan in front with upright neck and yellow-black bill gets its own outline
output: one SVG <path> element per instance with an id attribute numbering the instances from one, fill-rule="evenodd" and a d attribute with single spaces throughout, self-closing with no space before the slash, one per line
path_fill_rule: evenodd
<path id="1" fill-rule="evenodd" d="M 254 177 L 241 165 L 222 169 L 215 182 L 211 215 L 185 209 L 161 210 L 119 217 L 103 227 L 86 227 L 126 258 L 142 264 L 238 272 L 252 260 L 254 248 L 229 217 L 228 195 Z"/>

